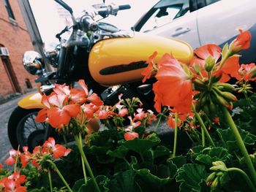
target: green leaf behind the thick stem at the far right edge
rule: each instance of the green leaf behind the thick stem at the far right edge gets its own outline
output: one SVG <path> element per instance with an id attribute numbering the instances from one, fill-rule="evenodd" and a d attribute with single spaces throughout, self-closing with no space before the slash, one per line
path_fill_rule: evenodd
<path id="1" fill-rule="evenodd" d="M 250 134 L 249 131 L 244 131 L 244 129 L 239 130 L 241 134 L 241 138 L 244 141 L 244 145 L 246 146 L 252 146 L 255 145 L 256 136 L 253 134 Z M 230 128 L 227 129 L 217 129 L 217 133 L 219 134 L 219 137 L 221 138 L 222 142 L 225 144 L 225 147 L 230 152 L 239 150 L 236 144 L 236 138 L 233 135 L 233 132 Z"/>

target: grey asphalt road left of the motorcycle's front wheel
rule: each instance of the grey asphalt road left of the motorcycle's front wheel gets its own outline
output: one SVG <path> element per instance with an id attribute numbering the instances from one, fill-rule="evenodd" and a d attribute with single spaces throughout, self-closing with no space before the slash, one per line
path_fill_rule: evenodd
<path id="1" fill-rule="evenodd" d="M 29 95 L 31 93 L 26 93 L 22 96 L 18 96 L 16 99 L 12 99 L 4 104 L 0 104 L 0 163 L 3 164 L 5 159 L 9 157 L 9 151 L 12 149 L 10 144 L 8 134 L 7 134 L 7 124 L 12 114 L 12 111 L 17 107 L 18 101 Z"/>

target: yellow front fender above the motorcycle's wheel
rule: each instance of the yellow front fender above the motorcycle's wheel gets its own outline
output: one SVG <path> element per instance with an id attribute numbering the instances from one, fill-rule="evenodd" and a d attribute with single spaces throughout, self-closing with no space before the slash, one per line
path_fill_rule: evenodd
<path id="1" fill-rule="evenodd" d="M 18 101 L 18 106 L 30 110 L 30 109 L 42 109 L 44 105 L 41 103 L 42 96 L 40 93 L 32 93 L 29 96 L 24 97 Z"/>

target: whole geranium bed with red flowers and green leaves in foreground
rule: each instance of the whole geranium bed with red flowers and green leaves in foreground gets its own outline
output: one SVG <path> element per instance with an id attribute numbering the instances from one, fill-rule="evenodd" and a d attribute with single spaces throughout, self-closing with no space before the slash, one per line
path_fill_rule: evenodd
<path id="1" fill-rule="evenodd" d="M 0 191 L 256 191 L 256 67 L 239 65 L 251 39 L 240 33 L 223 48 L 197 48 L 189 65 L 169 53 L 158 63 L 157 51 L 149 56 L 143 82 L 157 80 L 158 115 L 122 95 L 106 106 L 83 80 L 81 89 L 56 85 L 37 120 L 75 145 L 50 137 L 33 152 L 11 150 L 5 164 L 14 169 L 0 164 Z M 163 120 L 170 135 L 159 134 Z"/>

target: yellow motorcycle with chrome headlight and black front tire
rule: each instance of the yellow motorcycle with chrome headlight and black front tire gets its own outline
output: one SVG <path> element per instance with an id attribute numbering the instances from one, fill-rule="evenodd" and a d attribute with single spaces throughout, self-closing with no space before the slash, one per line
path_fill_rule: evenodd
<path id="1" fill-rule="evenodd" d="M 72 27 L 64 28 L 56 37 L 61 45 L 53 52 L 46 53 L 56 72 L 46 72 L 42 55 L 34 51 L 24 53 L 23 65 L 30 74 L 38 74 L 41 93 L 33 93 L 20 99 L 18 107 L 12 112 L 8 123 L 8 136 L 12 147 L 29 146 L 33 149 L 42 144 L 49 136 L 58 137 L 48 123 L 37 123 L 35 117 L 42 109 L 42 93 L 50 93 L 53 83 L 73 86 L 83 79 L 89 89 L 97 93 L 105 104 L 113 105 L 122 99 L 138 97 L 143 107 L 153 109 L 154 78 L 141 82 L 141 72 L 146 68 L 148 56 L 158 51 L 156 62 L 164 53 L 172 53 L 178 61 L 188 64 L 193 55 L 192 47 L 178 39 L 142 34 L 135 31 L 123 31 L 110 23 L 96 20 L 96 16 L 107 18 L 116 15 L 129 4 L 95 4 L 94 12 L 84 12 L 80 18 L 74 18 L 72 8 L 64 1 L 54 0 L 72 15 Z M 66 42 L 61 35 L 72 31 Z"/>

